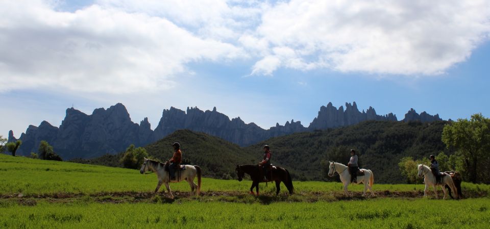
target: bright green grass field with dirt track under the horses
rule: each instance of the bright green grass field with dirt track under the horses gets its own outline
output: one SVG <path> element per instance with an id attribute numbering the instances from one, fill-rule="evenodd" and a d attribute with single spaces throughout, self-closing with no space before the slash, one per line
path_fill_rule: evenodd
<path id="1" fill-rule="evenodd" d="M 360 197 L 351 185 L 293 182 L 261 184 L 261 196 L 247 194 L 251 182 L 204 179 L 199 197 L 187 183 L 171 184 L 175 200 L 151 197 L 156 175 L 138 170 L 33 160 L 0 155 L 0 228 L 488 228 L 490 186 L 463 183 L 463 194 L 480 198 L 422 198 L 423 185 L 376 184 L 376 197 Z M 163 189 L 161 190 L 163 191 Z M 386 193 L 411 192 L 415 196 Z M 19 195 L 21 193 L 21 195 Z M 440 194 L 442 192 L 439 191 Z M 43 196 L 44 195 L 44 196 Z"/>

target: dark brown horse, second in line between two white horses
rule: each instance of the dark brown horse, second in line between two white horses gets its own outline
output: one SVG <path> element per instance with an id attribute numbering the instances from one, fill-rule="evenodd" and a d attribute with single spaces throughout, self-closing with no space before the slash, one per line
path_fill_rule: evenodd
<path id="1" fill-rule="evenodd" d="M 236 165 L 236 174 L 238 176 L 238 181 L 243 180 L 243 176 L 245 173 L 250 175 L 252 179 L 252 186 L 250 187 L 250 194 L 254 194 L 254 187 L 256 187 L 257 195 L 259 195 L 259 183 L 269 182 L 263 180 L 263 174 L 261 173 L 261 168 L 258 165 Z M 274 166 L 270 170 L 271 172 L 271 182 L 276 182 L 276 195 L 279 194 L 281 190 L 280 184 L 281 182 L 286 185 L 289 194 L 293 193 L 294 187 L 292 186 L 291 175 L 285 168 L 281 168 L 279 166 Z"/>

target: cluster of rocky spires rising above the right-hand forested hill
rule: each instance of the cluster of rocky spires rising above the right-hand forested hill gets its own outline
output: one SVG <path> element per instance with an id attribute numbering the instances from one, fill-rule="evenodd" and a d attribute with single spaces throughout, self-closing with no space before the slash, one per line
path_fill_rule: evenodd
<path id="1" fill-rule="evenodd" d="M 397 116 L 393 113 L 387 115 L 378 115 L 374 108 L 369 107 L 366 112 L 360 112 L 357 109 L 356 102 L 346 103 L 346 110 L 340 106 L 335 108 L 332 103 L 328 103 L 327 107 L 322 106 L 318 111 L 318 116 L 308 126 L 309 130 L 325 130 L 329 128 L 338 128 L 341 126 L 354 125 L 366 120 L 379 121 L 397 121 Z"/>

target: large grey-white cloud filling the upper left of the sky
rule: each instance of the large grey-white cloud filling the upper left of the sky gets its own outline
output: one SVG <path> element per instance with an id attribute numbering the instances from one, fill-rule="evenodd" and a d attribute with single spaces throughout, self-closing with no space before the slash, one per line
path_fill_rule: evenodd
<path id="1" fill-rule="evenodd" d="M 244 56 L 148 14 L 92 5 L 74 13 L 39 1 L 0 8 L 1 90 L 52 86 L 126 93 L 175 84 L 186 63 Z"/>

